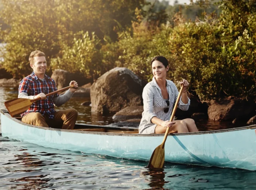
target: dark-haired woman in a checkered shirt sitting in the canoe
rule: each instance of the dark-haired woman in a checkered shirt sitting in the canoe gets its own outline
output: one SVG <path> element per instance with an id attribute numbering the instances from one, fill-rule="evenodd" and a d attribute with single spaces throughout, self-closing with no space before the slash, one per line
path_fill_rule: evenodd
<path id="1" fill-rule="evenodd" d="M 170 121 L 179 92 L 171 80 L 166 80 L 169 70 L 167 59 L 163 56 L 156 56 L 151 61 L 151 67 L 154 77 L 143 89 L 144 111 L 139 133 L 165 133 L 167 127 L 170 127 L 169 133 L 197 132 L 198 129 L 193 119 Z M 180 85 L 184 85 L 184 88 L 178 107 L 187 111 L 190 105 L 190 99 L 187 96 L 189 83 L 183 79 Z"/>

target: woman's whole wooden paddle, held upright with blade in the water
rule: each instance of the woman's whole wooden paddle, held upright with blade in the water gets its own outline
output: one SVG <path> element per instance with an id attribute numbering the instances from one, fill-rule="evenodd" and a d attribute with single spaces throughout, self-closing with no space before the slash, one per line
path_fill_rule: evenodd
<path id="1" fill-rule="evenodd" d="M 183 90 L 183 87 L 184 87 L 184 85 L 181 86 L 180 92 L 178 94 L 176 103 L 175 103 L 174 108 L 173 108 L 173 112 L 171 114 L 170 121 L 173 121 L 175 112 L 176 112 L 177 107 L 178 107 L 178 103 L 180 101 L 181 92 Z M 162 144 L 160 144 L 158 147 L 156 147 L 156 149 L 153 151 L 153 153 L 151 155 L 151 158 L 150 158 L 150 161 L 149 161 L 149 165 L 147 166 L 148 168 L 163 168 L 163 166 L 164 166 L 164 144 L 165 144 L 165 141 L 167 139 L 169 130 L 170 130 L 170 128 L 167 127 Z"/>

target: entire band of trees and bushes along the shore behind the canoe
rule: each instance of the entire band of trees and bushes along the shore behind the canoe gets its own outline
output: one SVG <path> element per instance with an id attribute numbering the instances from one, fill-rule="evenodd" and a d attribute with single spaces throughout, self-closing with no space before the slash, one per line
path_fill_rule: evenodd
<path id="1" fill-rule="evenodd" d="M 0 0 L 1 78 L 29 75 L 28 56 L 38 49 L 49 76 L 64 69 L 93 86 L 120 67 L 146 84 L 151 58 L 163 55 L 168 79 L 190 82 L 192 114 L 233 122 L 256 115 L 256 0 L 45 1 Z"/>

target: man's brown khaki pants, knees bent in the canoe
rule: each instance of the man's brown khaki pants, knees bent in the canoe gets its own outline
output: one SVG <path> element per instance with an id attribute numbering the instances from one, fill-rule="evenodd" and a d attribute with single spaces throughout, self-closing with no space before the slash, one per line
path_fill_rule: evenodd
<path id="1" fill-rule="evenodd" d="M 75 109 L 60 110 L 54 113 L 54 119 L 39 112 L 31 112 L 22 117 L 21 121 L 30 125 L 62 129 L 74 129 L 78 113 Z"/>

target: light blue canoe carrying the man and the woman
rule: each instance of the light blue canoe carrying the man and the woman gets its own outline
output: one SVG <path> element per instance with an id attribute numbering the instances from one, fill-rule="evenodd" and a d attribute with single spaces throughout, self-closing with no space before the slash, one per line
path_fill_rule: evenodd
<path id="1" fill-rule="evenodd" d="M 1 110 L 1 128 L 3 137 L 44 147 L 144 161 L 149 161 L 164 137 L 140 135 L 134 128 L 104 128 L 84 124 L 76 124 L 75 128 L 100 128 L 105 132 L 43 128 L 11 118 L 5 110 Z M 170 135 L 165 143 L 165 161 L 255 171 L 256 125 Z"/>

